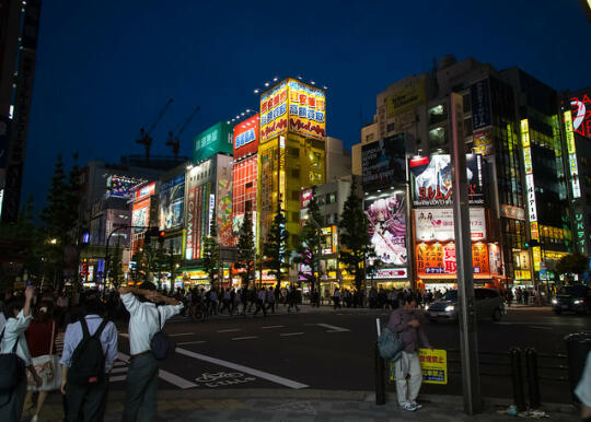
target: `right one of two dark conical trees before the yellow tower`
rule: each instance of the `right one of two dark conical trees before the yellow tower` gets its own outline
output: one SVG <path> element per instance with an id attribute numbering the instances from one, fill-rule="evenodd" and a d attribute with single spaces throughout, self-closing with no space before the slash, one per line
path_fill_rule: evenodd
<path id="1" fill-rule="evenodd" d="M 321 223 L 322 215 L 316 199 L 316 187 L 313 186 L 312 198 L 308 203 L 308 220 L 303 226 L 302 234 L 298 238 L 298 244 L 296 245 L 297 256 L 293 258 L 296 263 L 301 263 L 310 268 L 310 271 L 299 271 L 299 274 L 310 283 L 312 294 L 316 292 L 316 283 L 318 284 L 317 292 L 320 294 Z M 317 274 L 315 271 L 317 271 Z"/>

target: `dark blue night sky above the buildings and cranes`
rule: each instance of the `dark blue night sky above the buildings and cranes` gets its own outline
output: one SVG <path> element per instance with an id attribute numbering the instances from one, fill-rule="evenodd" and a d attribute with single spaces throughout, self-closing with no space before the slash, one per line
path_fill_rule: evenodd
<path id="1" fill-rule="evenodd" d="M 453 5 L 452 5 L 453 4 Z M 142 153 L 134 140 L 167 98 L 153 154 L 196 105 L 182 137 L 257 107 L 255 87 L 302 74 L 326 84 L 327 134 L 358 141 L 390 83 L 433 58 L 519 66 L 563 90 L 591 84 L 591 25 L 579 0 L 46 0 L 23 195 L 45 201 L 57 154 L 71 165 Z"/>

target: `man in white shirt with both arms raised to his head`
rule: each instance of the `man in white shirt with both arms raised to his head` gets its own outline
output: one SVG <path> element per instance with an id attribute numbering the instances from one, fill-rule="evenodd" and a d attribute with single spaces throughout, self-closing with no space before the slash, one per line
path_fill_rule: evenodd
<path id="1" fill-rule="evenodd" d="M 164 327 L 166 319 L 183 309 L 183 303 L 161 295 L 152 283 L 142 289 L 119 288 L 121 301 L 129 312 L 129 349 L 131 363 L 127 372 L 125 408 L 121 421 L 155 421 L 158 417 L 158 361 L 152 354 L 151 341 Z M 157 306 L 165 303 L 167 305 Z"/>

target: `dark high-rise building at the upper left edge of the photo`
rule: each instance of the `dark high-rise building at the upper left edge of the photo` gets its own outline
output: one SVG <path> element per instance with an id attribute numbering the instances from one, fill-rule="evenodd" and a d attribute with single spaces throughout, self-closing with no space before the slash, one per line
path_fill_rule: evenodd
<path id="1" fill-rule="evenodd" d="M 0 1 L 0 219 L 15 222 L 33 99 L 40 0 Z"/>

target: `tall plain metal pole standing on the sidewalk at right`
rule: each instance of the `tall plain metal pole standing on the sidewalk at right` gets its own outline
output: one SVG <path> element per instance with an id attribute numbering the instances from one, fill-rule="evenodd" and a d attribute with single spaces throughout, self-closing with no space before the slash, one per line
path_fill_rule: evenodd
<path id="1" fill-rule="evenodd" d="M 464 408 L 467 414 L 482 410 L 480 377 L 478 373 L 478 338 L 474 307 L 474 280 L 472 243 L 470 232 L 470 208 L 467 195 L 466 154 L 463 130 L 462 96 L 450 95 L 451 115 L 451 163 L 453 186 L 453 220 L 455 232 L 455 259 L 457 296 L 460 302 L 460 348 L 462 353 L 462 386 Z"/>

